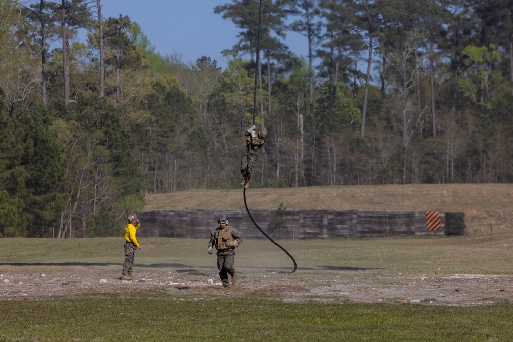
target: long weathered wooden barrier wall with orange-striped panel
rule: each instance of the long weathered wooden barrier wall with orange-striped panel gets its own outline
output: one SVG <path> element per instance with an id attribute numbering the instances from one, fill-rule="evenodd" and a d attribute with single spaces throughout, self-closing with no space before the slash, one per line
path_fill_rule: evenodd
<path id="1" fill-rule="evenodd" d="M 218 225 L 216 216 L 224 213 L 229 224 L 238 229 L 243 238 L 265 239 L 244 210 L 146 210 L 139 214 L 141 229 L 137 237 L 178 237 L 208 239 Z M 273 239 L 270 222 L 275 210 L 251 210 L 259 227 Z M 464 231 L 464 213 L 450 217 L 451 235 Z M 300 210 L 286 209 L 287 229 L 281 239 L 300 240 L 341 237 L 388 237 L 446 234 L 446 213 L 443 211 L 357 211 L 357 210 Z"/>

